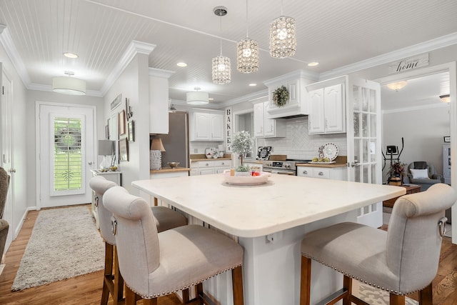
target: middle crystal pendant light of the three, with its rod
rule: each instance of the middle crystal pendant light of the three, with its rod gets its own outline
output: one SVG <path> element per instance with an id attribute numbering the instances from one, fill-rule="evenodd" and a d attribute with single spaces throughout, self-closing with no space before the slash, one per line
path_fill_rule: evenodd
<path id="1" fill-rule="evenodd" d="M 238 41 L 236 45 L 236 64 L 241 73 L 251 73 L 258 70 L 258 44 L 249 39 L 248 34 L 248 0 L 246 0 L 246 39 Z"/>

